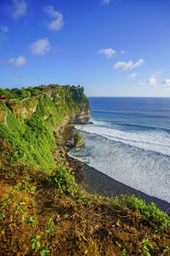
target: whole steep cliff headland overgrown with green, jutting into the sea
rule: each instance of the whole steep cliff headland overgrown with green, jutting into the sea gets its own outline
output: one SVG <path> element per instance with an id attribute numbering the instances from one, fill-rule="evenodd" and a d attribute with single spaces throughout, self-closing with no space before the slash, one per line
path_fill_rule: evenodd
<path id="1" fill-rule="evenodd" d="M 89 119 L 88 99 L 75 86 L 47 89 L 22 100 L 1 100 L 0 147 L 5 141 L 15 160 L 51 170 L 55 165 L 51 154 L 56 148 L 54 131 L 70 124 L 88 124 Z"/>

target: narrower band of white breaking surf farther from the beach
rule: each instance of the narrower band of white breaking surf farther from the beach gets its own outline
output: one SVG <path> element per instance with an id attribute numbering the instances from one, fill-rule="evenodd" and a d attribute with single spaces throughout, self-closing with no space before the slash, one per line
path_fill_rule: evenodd
<path id="1" fill-rule="evenodd" d="M 170 134 L 167 131 L 121 131 L 104 125 L 105 122 L 95 121 L 94 125 L 76 125 L 76 128 L 117 143 L 170 156 Z"/>

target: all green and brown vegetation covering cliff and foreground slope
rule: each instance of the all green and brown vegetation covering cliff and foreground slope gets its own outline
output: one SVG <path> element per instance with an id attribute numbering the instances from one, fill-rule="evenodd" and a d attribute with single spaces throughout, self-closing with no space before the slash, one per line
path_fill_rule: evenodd
<path id="1" fill-rule="evenodd" d="M 54 161 L 56 143 L 63 147 L 54 129 L 65 115 L 88 106 L 83 90 L 68 85 L 54 90 L 1 102 L 0 252 L 169 255 L 166 212 L 133 195 L 122 200 L 90 195 L 77 185 L 69 166 Z"/>

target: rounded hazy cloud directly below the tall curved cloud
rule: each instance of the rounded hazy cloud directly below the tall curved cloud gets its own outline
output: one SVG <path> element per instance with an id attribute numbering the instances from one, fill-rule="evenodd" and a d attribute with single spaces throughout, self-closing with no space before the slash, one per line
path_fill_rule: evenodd
<path id="1" fill-rule="evenodd" d="M 29 46 L 33 55 L 45 55 L 51 49 L 48 38 L 42 38 Z"/>

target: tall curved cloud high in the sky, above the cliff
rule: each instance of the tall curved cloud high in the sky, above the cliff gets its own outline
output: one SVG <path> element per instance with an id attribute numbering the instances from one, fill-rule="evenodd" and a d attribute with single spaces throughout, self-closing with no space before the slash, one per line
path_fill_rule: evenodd
<path id="1" fill-rule="evenodd" d="M 44 11 L 51 17 L 54 18 L 54 20 L 49 23 L 48 28 L 50 30 L 59 31 L 61 29 L 65 22 L 63 20 L 63 15 L 60 14 L 58 11 L 54 10 L 54 7 L 52 5 L 49 5 L 47 7 L 44 7 Z"/>

